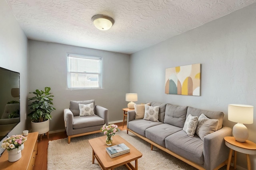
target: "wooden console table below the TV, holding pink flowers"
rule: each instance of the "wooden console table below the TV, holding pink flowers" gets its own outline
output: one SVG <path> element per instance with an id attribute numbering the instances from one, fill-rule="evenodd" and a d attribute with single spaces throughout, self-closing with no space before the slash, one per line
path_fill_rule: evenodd
<path id="1" fill-rule="evenodd" d="M 5 150 L 0 157 L 1 170 L 32 170 L 37 154 L 38 132 L 28 133 L 27 141 L 24 142 L 24 149 L 21 151 L 21 158 L 16 162 L 8 161 L 8 152 Z"/>

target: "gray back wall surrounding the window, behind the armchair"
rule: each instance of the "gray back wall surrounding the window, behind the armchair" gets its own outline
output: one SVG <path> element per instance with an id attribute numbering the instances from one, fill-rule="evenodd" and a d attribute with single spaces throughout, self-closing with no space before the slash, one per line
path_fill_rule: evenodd
<path id="1" fill-rule="evenodd" d="M 95 99 L 96 105 L 108 109 L 109 121 L 122 120 L 122 108 L 127 107 L 125 94 L 129 92 L 129 55 L 58 43 L 28 42 L 29 92 L 49 86 L 54 95 L 56 110 L 52 112 L 50 131 L 64 129 L 63 110 L 69 108 L 70 100 Z M 102 89 L 68 90 L 68 53 L 103 57 Z"/>

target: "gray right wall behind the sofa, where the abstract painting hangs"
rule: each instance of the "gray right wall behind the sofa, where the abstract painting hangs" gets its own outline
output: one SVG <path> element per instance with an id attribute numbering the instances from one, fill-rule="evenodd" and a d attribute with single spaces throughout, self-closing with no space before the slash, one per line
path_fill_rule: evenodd
<path id="1" fill-rule="evenodd" d="M 256 4 L 212 21 L 158 45 L 131 55 L 130 91 L 138 103 L 153 100 L 181 106 L 223 111 L 228 104 L 256 107 Z M 201 63 L 201 96 L 165 94 L 165 69 Z M 254 123 L 246 125 L 249 140 L 256 142 Z M 252 169 L 256 156 L 251 155 Z M 246 168 L 246 156 L 238 153 L 237 164 Z"/>

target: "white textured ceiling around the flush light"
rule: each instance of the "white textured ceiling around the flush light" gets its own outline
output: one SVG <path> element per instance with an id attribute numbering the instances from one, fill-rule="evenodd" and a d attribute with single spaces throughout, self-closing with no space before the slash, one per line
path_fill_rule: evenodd
<path id="1" fill-rule="evenodd" d="M 28 39 L 131 54 L 256 0 L 6 0 Z M 91 18 L 115 20 L 108 31 Z"/>

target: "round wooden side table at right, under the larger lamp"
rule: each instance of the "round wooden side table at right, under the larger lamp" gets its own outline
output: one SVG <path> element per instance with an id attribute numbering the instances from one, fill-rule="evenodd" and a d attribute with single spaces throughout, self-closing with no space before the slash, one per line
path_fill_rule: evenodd
<path id="1" fill-rule="evenodd" d="M 236 169 L 236 152 L 246 154 L 247 168 L 251 170 L 250 154 L 256 154 L 256 143 L 246 140 L 245 142 L 238 142 L 234 137 L 224 137 L 225 145 L 230 148 L 228 155 L 227 170 L 229 170 L 230 162 L 232 158 L 232 152 L 234 150 L 234 169 Z"/>

